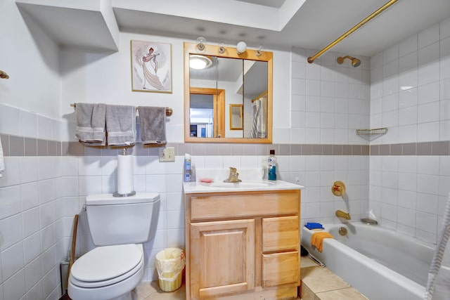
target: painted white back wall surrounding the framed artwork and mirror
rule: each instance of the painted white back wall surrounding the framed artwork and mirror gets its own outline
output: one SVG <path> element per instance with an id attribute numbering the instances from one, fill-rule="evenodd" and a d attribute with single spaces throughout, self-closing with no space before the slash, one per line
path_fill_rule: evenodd
<path id="1" fill-rule="evenodd" d="M 172 44 L 172 93 L 131 91 L 130 40 L 158 41 Z M 184 70 L 183 43 L 174 39 L 143 34 L 120 34 L 120 51 L 113 54 L 61 51 L 62 97 L 64 119 L 74 120 L 70 103 L 103 102 L 109 104 L 168 106 L 174 109 L 168 118 L 167 139 L 184 141 Z M 269 49 L 270 50 L 270 49 Z M 274 51 L 274 126 L 289 127 L 290 53 Z M 72 128 L 64 130 L 65 141 L 74 141 Z M 282 141 L 275 141 L 281 143 Z"/>

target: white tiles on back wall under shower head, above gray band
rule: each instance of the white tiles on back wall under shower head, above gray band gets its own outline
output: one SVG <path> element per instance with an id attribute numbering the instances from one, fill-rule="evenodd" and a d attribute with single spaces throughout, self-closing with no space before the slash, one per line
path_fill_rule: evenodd
<path id="1" fill-rule="evenodd" d="M 355 69 L 328 52 L 307 63 L 311 51 L 294 48 L 289 143 L 366 144 L 355 129 L 369 126 L 370 61 Z M 277 136 L 278 141 L 278 136 Z"/>

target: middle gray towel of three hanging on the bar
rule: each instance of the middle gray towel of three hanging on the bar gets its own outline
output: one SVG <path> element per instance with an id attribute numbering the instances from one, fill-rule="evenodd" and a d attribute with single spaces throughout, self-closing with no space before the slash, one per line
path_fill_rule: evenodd
<path id="1" fill-rule="evenodd" d="M 106 131 L 108 145 L 134 145 L 136 143 L 136 107 L 106 105 Z"/>

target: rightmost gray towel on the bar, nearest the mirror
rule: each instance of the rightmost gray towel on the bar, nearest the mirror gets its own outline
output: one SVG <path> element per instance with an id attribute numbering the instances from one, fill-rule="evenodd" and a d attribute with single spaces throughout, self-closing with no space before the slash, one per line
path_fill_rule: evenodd
<path id="1" fill-rule="evenodd" d="M 139 106 L 139 120 L 144 145 L 167 143 L 166 107 Z"/>

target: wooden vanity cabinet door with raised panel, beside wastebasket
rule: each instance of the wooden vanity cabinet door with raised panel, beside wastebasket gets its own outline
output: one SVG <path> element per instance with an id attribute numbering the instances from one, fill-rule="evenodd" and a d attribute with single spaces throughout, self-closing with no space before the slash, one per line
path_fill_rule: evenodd
<path id="1" fill-rule="evenodd" d="M 255 288 L 255 220 L 191 223 L 191 299 Z"/>

